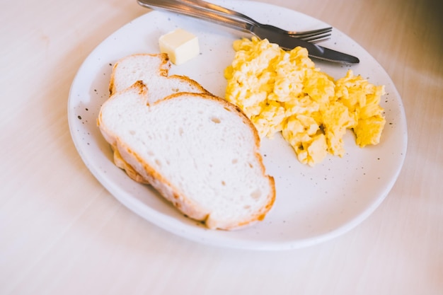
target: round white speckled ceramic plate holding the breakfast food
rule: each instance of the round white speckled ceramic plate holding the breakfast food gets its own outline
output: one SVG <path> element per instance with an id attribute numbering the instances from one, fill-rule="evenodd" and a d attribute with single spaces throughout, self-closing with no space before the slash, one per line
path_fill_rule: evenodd
<path id="1" fill-rule="evenodd" d="M 248 13 L 258 21 L 282 28 L 309 30 L 326 25 L 286 8 L 253 1 L 217 1 L 217 4 Z M 110 146 L 96 126 L 100 105 L 108 98 L 113 64 L 139 52 L 159 52 L 161 35 L 183 28 L 198 36 L 199 57 L 171 74 L 199 81 L 224 96 L 223 71 L 234 57 L 232 42 L 244 36 L 234 30 L 173 13 L 146 13 L 104 40 L 84 61 L 69 94 L 68 116 L 76 149 L 91 173 L 122 204 L 153 224 L 193 241 L 233 248 L 282 250 L 313 245 L 352 229 L 383 201 L 403 165 L 407 130 L 403 105 L 388 74 L 362 47 L 339 30 L 323 45 L 353 54 L 360 64 L 343 66 L 316 62 L 331 76 L 344 76 L 350 67 L 370 82 L 384 84 L 381 105 L 387 124 L 377 146 L 360 149 L 351 132 L 345 136 L 343 158 L 328 156 L 314 168 L 297 161 L 292 149 L 279 137 L 262 141 L 267 173 L 276 181 L 275 205 L 264 221 L 238 231 L 210 231 L 186 218 L 147 185 L 134 183 L 114 166 Z"/>

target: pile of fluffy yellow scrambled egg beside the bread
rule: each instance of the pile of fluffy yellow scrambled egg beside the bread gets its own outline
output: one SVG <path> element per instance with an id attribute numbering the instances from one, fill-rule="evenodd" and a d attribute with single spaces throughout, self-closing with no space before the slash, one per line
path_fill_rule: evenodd
<path id="1" fill-rule="evenodd" d="M 236 40 L 234 50 L 224 72 L 226 100 L 246 113 L 260 137 L 282 132 L 299 161 L 309 166 L 328 154 L 343 156 L 347 129 L 361 147 L 379 143 L 386 122 L 379 105 L 384 86 L 351 70 L 335 81 L 315 67 L 303 47 L 287 52 L 252 37 Z"/>

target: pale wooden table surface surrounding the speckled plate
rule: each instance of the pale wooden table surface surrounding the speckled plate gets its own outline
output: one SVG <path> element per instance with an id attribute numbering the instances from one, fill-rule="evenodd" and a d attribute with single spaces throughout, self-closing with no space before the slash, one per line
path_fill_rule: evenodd
<path id="1" fill-rule="evenodd" d="M 88 54 L 146 13 L 133 0 L 8 1 L 0 12 L 0 294 L 443 294 L 443 28 L 438 0 L 263 1 L 330 23 L 400 93 L 408 153 L 384 202 L 309 248 L 203 245 L 120 204 L 67 121 Z"/>

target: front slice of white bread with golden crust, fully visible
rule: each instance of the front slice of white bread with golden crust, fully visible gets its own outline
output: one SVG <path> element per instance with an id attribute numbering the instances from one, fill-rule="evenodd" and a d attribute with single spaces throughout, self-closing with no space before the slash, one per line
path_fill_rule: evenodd
<path id="1" fill-rule="evenodd" d="M 209 229 L 262 220 L 275 183 L 265 174 L 258 132 L 246 115 L 205 93 L 176 93 L 155 103 L 149 96 L 139 81 L 100 110 L 100 131 L 123 161 Z"/>

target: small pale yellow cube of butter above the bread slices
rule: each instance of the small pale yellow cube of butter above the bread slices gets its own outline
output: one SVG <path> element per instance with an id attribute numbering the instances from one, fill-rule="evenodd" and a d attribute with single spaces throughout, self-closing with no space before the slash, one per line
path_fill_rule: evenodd
<path id="1" fill-rule="evenodd" d="M 197 36 L 183 29 L 160 37 L 160 52 L 167 53 L 173 64 L 183 64 L 200 53 Z"/>

